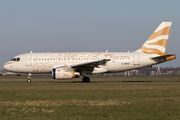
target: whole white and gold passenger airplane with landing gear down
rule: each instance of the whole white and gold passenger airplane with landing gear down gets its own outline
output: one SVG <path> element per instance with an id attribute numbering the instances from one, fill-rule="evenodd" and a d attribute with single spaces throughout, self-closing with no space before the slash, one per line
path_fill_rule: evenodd
<path id="1" fill-rule="evenodd" d="M 7 71 L 28 73 L 31 82 L 34 73 L 52 73 L 53 79 L 71 79 L 84 76 L 82 82 L 90 82 L 88 74 L 115 73 L 148 67 L 176 59 L 166 54 L 166 45 L 172 22 L 162 22 L 141 48 L 134 52 L 72 52 L 26 53 L 13 57 L 4 64 Z"/>

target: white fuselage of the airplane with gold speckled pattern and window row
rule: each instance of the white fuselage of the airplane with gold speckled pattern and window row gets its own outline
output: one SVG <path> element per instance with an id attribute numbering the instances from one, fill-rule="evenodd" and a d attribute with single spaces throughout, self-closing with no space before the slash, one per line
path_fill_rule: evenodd
<path id="1" fill-rule="evenodd" d="M 131 53 L 26 53 L 15 56 L 19 61 L 9 61 L 4 69 L 18 73 L 50 73 L 53 68 L 109 59 L 98 65 L 92 73 L 121 72 L 156 64 L 152 57 L 157 54 Z M 103 68 L 103 70 L 98 69 Z M 89 73 L 88 70 L 86 72 Z"/>

